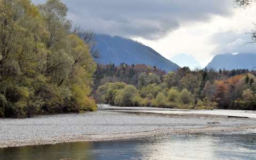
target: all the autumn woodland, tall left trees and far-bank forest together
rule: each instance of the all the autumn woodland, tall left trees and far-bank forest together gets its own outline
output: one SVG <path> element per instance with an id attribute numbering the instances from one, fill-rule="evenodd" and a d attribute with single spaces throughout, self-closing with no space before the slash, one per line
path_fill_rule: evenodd
<path id="1" fill-rule="evenodd" d="M 255 71 L 95 62 L 92 33 L 59 0 L 0 0 L 0 117 L 81 113 L 97 103 L 256 110 Z"/>

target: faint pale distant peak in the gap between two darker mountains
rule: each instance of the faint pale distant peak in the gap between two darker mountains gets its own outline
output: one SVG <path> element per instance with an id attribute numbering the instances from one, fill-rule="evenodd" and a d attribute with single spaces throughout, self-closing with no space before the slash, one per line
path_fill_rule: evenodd
<path id="1" fill-rule="evenodd" d="M 174 55 L 170 59 L 172 62 L 177 63 L 180 67 L 189 67 L 190 69 L 201 68 L 201 64 L 195 59 L 193 55 L 185 53 Z"/>

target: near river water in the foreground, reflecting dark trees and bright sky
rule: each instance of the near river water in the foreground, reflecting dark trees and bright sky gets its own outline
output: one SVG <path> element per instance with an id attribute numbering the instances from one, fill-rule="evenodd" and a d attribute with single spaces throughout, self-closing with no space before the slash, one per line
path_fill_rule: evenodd
<path id="1" fill-rule="evenodd" d="M 256 159 L 256 134 L 172 135 L 0 149 L 0 159 Z"/>

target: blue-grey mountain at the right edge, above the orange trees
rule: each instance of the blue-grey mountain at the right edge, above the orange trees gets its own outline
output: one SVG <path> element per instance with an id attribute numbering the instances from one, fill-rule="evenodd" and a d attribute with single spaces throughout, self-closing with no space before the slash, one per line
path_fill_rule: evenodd
<path id="1" fill-rule="evenodd" d="M 206 66 L 214 69 L 249 69 L 256 67 L 256 54 L 218 54 Z"/>

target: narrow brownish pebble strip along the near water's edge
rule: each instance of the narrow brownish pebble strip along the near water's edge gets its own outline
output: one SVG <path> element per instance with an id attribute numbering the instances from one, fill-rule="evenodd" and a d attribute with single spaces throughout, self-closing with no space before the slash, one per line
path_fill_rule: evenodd
<path id="1" fill-rule="evenodd" d="M 70 143 L 70 142 L 99 142 L 99 141 L 116 141 L 116 140 L 134 140 L 150 137 L 162 137 L 175 134 L 219 134 L 230 133 L 234 131 L 246 131 L 248 129 L 256 129 L 256 125 L 253 126 L 241 126 L 241 127 L 205 127 L 196 129 L 166 129 L 149 132 L 137 132 L 137 133 L 122 133 L 113 135 L 74 135 L 72 137 L 55 137 L 52 139 L 34 139 L 25 140 L 20 142 L 8 141 L 6 144 L 1 143 L 0 149 L 13 148 L 13 147 L 25 147 L 25 146 L 38 146 L 38 145 L 56 145 L 58 143 Z"/>

